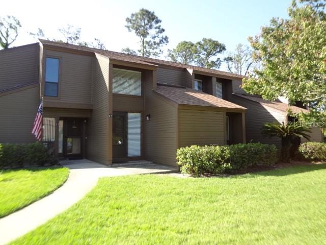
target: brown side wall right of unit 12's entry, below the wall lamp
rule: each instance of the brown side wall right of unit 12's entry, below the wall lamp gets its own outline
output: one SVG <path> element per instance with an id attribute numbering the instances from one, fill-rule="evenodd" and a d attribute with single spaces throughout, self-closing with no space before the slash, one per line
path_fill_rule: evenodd
<path id="1" fill-rule="evenodd" d="M 176 165 L 177 108 L 152 91 L 151 71 L 144 72 L 146 88 L 145 158 L 159 164 Z"/>

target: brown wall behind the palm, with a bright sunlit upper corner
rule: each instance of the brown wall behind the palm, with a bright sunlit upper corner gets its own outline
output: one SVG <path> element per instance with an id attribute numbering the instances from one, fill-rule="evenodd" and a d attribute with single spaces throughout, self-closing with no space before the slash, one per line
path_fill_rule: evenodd
<path id="1" fill-rule="evenodd" d="M 268 107 L 263 107 L 258 103 L 241 99 L 232 95 L 231 102 L 247 108 L 246 111 L 246 139 L 247 142 L 261 142 L 266 144 L 275 144 L 281 148 L 281 139 L 277 137 L 265 138 L 261 135 L 261 128 L 265 122 L 278 121 L 282 123 L 285 120 L 286 113 Z"/>

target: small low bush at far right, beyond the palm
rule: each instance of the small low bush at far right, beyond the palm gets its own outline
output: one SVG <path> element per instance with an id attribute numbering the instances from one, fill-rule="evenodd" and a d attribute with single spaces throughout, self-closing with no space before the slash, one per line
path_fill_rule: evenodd
<path id="1" fill-rule="evenodd" d="M 302 143 L 298 152 L 307 160 L 326 161 L 326 144 L 320 142 Z"/>

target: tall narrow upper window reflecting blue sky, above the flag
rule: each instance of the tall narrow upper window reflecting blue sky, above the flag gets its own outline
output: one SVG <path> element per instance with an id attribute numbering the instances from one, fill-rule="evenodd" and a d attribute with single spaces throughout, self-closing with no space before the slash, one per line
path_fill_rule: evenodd
<path id="1" fill-rule="evenodd" d="M 58 96 L 59 59 L 46 58 L 45 61 L 45 96 Z"/>

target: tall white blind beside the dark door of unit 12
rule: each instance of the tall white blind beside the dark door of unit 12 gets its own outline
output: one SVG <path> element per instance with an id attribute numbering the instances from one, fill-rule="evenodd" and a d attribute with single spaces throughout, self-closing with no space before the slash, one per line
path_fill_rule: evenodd
<path id="1" fill-rule="evenodd" d="M 141 113 L 128 113 L 128 157 L 141 155 Z"/>

